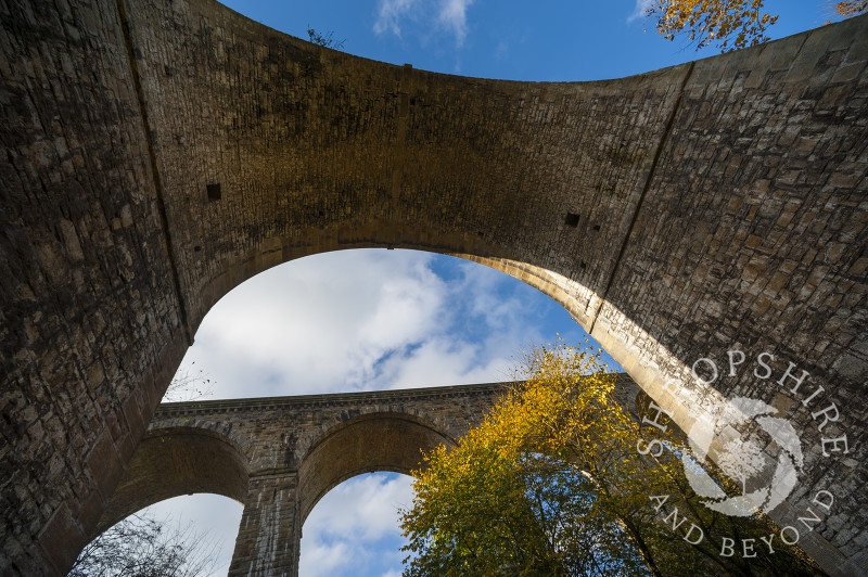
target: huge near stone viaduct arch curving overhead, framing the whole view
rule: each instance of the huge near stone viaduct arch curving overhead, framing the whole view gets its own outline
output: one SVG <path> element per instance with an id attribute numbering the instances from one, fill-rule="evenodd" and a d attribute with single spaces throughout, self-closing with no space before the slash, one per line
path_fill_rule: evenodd
<path id="1" fill-rule="evenodd" d="M 538 287 L 685 431 L 774 402 L 805 462 L 773 517 L 831 491 L 800 544 L 868 574 L 868 18 L 566 84 L 367 61 L 213 0 L 0 0 L 0 573 L 65 572 L 224 294 L 379 246 Z"/>

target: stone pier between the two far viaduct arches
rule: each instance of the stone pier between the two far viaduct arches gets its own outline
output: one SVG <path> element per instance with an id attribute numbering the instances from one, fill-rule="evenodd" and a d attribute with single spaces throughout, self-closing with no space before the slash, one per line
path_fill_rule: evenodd
<path id="1" fill-rule="evenodd" d="M 298 525 L 294 469 L 251 475 L 229 577 L 298 575 Z"/>

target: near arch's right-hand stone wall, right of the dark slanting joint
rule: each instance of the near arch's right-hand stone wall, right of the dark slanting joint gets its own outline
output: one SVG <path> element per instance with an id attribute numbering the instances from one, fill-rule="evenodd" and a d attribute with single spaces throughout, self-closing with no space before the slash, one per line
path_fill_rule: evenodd
<path id="1" fill-rule="evenodd" d="M 820 29 L 693 64 L 593 335 L 610 352 L 633 339 L 634 358 L 661 367 L 725 366 L 727 350 L 743 350 L 716 392 L 771 402 L 805 451 L 776 521 L 793 525 L 818 490 L 834 493 L 829 518 L 803 535 L 816 546 L 800 544 L 856 575 L 868 570 L 856 497 L 867 478 L 868 30 L 865 18 L 844 26 L 859 41 Z M 771 382 L 754 373 L 762 352 L 774 355 Z M 780 382 L 790 363 L 794 377 L 809 374 L 795 392 L 795 379 Z M 830 407 L 839 419 L 824 427 L 814 413 Z M 824 454 L 821 439 L 843 435 L 848 450 Z"/>

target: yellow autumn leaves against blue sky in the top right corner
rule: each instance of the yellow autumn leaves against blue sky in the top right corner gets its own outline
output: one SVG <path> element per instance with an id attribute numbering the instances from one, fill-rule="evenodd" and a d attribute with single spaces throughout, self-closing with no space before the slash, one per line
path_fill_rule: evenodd
<path id="1" fill-rule="evenodd" d="M 839 16 L 868 11 L 868 0 L 834 2 Z M 767 41 L 778 16 L 763 11 L 763 0 L 651 0 L 644 15 L 667 40 L 687 37 L 697 50 L 716 44 L 723 52 Z"/>

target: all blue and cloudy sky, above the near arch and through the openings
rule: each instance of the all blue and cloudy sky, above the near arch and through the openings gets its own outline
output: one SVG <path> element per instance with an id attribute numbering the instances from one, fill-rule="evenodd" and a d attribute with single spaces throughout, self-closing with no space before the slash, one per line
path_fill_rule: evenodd
<path id="1" fill-rule="evenodd" d="M 344 50 L 416 68 L 515 80 L 596 80 L 713 55 L 665 41 L 641 17 L 648 0 L 233 0 L 230 8 L 306 38 L 334 33 Z M 767 1 L 780 38 L 830 17 L 824 0 Z M 207 373 L 209 398 L 339 393 L 502 381 L 514 357 L 560 333 L 584 332 L 548 297 L 452 257 L 347 251 L 266 271 L 205 318 L 181 370 Z M 329 492 L 304 526 L 301 575 L 396 576 L 396 510 L 410 479 L 373 474 Z M 241 505 L 179 497 L 157 516 L 222 540 L 226 575 Z"/>

